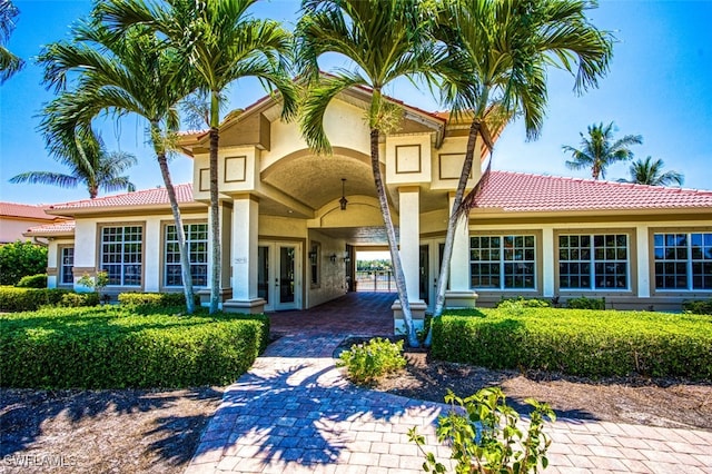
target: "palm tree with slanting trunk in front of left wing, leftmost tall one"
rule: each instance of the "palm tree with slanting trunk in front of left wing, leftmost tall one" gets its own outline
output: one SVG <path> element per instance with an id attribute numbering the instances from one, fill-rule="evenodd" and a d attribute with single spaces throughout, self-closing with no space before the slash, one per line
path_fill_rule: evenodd
<path id="1" fill-rule="evenodd" d="M 96 12 L 95 12 L 96 13 Z M 99 113 L 135 113 L 148 122 L 176 225 L 188 314 L 195 312 L 188 246 L 178 199 L 168 167 L 168 152 L 179 127 L 177 105 L 192 85 L 179 70 L 182 58 L 145 27 L 112 33 L 95 18 L 72 29 L 72 40 L 52 43 L 42 51 L 44 81 L 66 89 L 68 76 L 77 76 L 72 90 L 65 90 L 44 110 L 40 125 L 48 144 L 63 139 L 77 126 L 86 126 Z"/>

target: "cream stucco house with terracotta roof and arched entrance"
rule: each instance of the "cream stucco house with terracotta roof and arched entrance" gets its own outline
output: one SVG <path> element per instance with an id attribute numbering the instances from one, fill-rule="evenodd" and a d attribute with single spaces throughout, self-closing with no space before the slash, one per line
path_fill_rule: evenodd
<path id="1" fill-rule="evenodd" d="M 310 151 L 297 125 L 280 120 L 273 98 L 224 121 L 218 182 L 226 310 L 301 309 L 336 298 L 353 289 L 355 251 L 385 245 L 363 119 L 368 95 L 349 90 L 327 109 L 330 156 Z M 379 144 L 380 167 L 407 292 L 422 318 L 434 302 L 468 124 L 400 105 L 399 127 Z M 177 191 L 194 279 L 207 294 L 208 134 L 184 134 L 179 145 L 195 162 L 192 184 Z M 484 157 L 482 144 L 476 147 Z M 468 187 L 481 175 L 475 167 Z M 55 238 L 50 286 L 71 287 L 103 269 L 113 292 L 180 289 L 165 189 L 60 204 L 48 213 L 75 219 L 72 230 L 27 234 Z M 493 171 L 457 229 L 446 304 L 492 305 L 517 295 L 605 296 L 613 307 L 655 309 L 712 296 L 712 191 Z M 399 327 L 397 305 L 394 312 Z"/>

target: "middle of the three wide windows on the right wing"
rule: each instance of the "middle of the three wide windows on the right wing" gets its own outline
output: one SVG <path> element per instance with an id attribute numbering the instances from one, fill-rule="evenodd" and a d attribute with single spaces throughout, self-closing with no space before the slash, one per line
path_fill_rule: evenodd
<path id="1" fill-rule="evenodd" d="M 561 289 L 627 289 L 627 235 L 558 236 Z"/>

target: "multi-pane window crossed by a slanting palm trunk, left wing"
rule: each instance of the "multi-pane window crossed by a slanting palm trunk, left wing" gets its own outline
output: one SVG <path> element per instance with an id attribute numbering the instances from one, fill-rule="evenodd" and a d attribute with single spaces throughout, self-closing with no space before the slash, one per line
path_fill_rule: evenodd
<path id="1" fill-rule="evenodd" d="M 208 285 L 208 225 L 184 224 L 186 244 L 190 259 L 190 275 L 195 286 Z M 164 271 L 165 286 L 182 286 L 180 273 L 180 246 L 175 225 L 167 225 L 166 255 L 164 258 L 166 268 Z"/>

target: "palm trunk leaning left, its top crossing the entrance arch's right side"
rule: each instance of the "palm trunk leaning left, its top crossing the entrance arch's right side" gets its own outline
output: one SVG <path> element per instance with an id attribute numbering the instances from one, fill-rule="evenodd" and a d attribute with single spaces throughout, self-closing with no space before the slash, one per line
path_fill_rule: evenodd
<path id="1" fill-rule="evenodd" d="M 383 215 L 384 226 L 386 227 L 386 236 L 388 237 L 388 248 L 390 249 L 390 261 L 393 264 L 393 273 L 396 280 L 396 289 L 398 292 L 398 299 L 400 299 L 400 307 L 403 310 L 403 319 L 405 322 L 406 336 L 408 338 L 408 345 L 411 347 L 418 347 L 418 338 L 415 334 L 415 327 L 413 325 L 413 314 L 411 313 L 411 303 L 408 302 L 408 293 L 405 285 L 405 274 L 403 273 L 403 264 L 400 263 L 400 254 L 398 254 L 398 243 L 396 241 L 396 230 L 393 226 L 393 218 L 390 217 L 390 208 L 388 207 L 388 197 L 386 196 L 386 188 L 383 184 L 383 176 L 380 175 L 380 161 L 378 159 L 378 129 L 370 129 L 370 167 L 374 174 L 374 181 L 376 184 L 376 192 L 378 195 L 378 203 L 380 204 L 380 214 Z"/>

